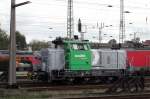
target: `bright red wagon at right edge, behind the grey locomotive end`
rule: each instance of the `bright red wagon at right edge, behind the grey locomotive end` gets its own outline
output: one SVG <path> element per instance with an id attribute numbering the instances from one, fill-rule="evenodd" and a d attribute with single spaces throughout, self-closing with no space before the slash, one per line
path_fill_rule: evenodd
<path id="1" fill-rule="evenodd" d="M 150 67 L 150 50 L 127 51 L 127 60 L 132 67 Z"/>

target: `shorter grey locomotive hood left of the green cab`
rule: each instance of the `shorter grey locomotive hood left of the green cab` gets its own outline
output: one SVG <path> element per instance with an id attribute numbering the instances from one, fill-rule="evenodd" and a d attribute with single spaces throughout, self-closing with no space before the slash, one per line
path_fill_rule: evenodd
<path id="1" fill-rule="evenodd" d="M 63 49 L 48 48 L 42 52 L 42 71 L 61 70 L 65 66 Z"/>

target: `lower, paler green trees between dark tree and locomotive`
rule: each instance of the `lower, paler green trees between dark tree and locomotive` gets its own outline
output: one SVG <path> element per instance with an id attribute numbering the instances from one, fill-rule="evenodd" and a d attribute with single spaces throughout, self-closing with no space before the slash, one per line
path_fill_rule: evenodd
<path id="1" fill-rule="evenodd" d="M 41 48 L 48 48 L 48 42 L 32 40 L 29 44 L 32 47 L 33 51 L 40 50 Z"/>

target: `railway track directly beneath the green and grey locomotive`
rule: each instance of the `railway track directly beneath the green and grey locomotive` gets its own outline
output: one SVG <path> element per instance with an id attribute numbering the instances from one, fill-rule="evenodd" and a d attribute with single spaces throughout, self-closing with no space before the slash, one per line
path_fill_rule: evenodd
<path id="1" fill-rule="evenodd" d="M 6 88 L 7 83 L 0 83 L 0 88 Z M 78 90 L 78 89 L 106 89 L 112 84 L 51 84 L 43 82 L 33 82 L 32 80 L 19 79 L 17 85 L 21 89 L 28 89 L 30 91 L 42 91 L 42 90 Z M 150 78 L 145 78 L 145 87 L 150 87 Z"/>

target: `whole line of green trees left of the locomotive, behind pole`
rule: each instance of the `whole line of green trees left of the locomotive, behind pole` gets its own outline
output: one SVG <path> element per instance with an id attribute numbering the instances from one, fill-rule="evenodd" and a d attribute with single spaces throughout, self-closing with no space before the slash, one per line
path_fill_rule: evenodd
<path id="1" fill-rule="evenodd" d="M 8 33 L 0 28 L 0 50 L 9 49 Z M 29 44 L 26 42 L 26 37 L 19 31 L 16 31 L 16 48 L 17 50 L 27 50 L 28 46 L 31 46 L 32 50 L 40 50 L 41 48 L 47 48 L 48 43 L 45 41 L 32 40 Z"/>

